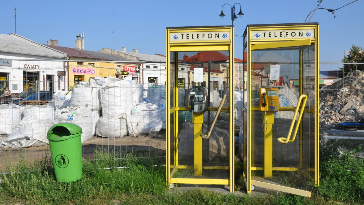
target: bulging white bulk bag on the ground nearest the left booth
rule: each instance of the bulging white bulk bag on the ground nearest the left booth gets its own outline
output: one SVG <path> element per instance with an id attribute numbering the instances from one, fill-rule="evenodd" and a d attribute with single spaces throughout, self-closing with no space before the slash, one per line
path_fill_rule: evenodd
<path id="1" fill-rule="evenodd" d="M 157 105 L 143 102 L 135 106 L 130 113 L 129 134 L 148 134 L 162 129 L 162 112 Z"/>

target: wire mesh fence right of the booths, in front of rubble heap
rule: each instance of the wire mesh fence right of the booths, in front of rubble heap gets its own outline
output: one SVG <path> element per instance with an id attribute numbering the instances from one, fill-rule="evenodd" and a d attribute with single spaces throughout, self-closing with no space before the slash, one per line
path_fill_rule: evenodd
<path id="1" fill-rule="evenodd" d="M 364 157 L 364 63 L 320 63 L 319 81 L 321 140 Z"/>

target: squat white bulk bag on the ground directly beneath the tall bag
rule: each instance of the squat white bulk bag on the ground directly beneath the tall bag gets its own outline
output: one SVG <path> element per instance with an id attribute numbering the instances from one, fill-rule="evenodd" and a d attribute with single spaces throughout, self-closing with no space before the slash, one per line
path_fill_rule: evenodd
<path id="1" fill-rule="evenodd" d="M 127 134 L 126 119 L 102 117 L 96 124 L 96 134 L 108 138 L 123 137 Z"/>

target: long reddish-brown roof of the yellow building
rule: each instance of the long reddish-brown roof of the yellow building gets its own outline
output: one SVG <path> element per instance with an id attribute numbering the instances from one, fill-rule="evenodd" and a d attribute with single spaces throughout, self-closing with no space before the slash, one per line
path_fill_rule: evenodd
<path id="1" fill-rule="evenodd" d="M 121 58 L 119 56 L 113 56 L 110 54 L 105 54 L 101 52 L 96 51 L 82 51 L 77 48 L 68 48 L 63 46 L 51 46 L 51 45 L 45 45 L 48 47 L 51 47 L 55 50 L 62 51 L 66 53 L 70 57 L 74 58 L 87 58 L 87 59 L 96 59 L 96 60 L 114 60 L 114 61 L 131 61 L 126 58 Z"/>

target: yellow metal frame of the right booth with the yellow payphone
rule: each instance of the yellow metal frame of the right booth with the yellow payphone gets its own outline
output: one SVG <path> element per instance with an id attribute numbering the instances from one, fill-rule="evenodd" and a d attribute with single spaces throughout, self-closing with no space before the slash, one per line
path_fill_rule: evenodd
<path id="1" fill-rule="evenodd" d="M 261 31 L 261 30 L 287 30 L 287 29 L 314 29 L 314 38 L 311 39 L 261 39 L 261 40 L 256 40 L 256 39 L 252 39 L 251 36 L 251 32 L 252 31 Z M 292 193 L 292 194 L 297 194 L 297 195 L 301 195 L 301 196 L 305 196 L 305 197 L 310 197 L 310 192 L 306 191 L 306 190 L 300 190 L 300 189 L 295 189 L 295 188 L 289 188 L 289 187 L 285 187 L 285 186 L 281 186 L 281 185 L 276 185 L 273 183 L 268 183 L 268 182 L 261 182 L 261 181 L 256 181 L 256 180 L 252 180 L 252 171 L 254 170 L 264 170 L 264 175 L 265 176 L 270 176 L 270 173 L 272 171 L 297 171 L 300 170 L 302 168 L 302 129 L 300 129 L 300 162 L 299 162 L 299 167 L 272 167 L 271 162 L 269 161 L 269 158 L 266 156 L 266 154 L 270 153 L 270 151 L 272 151 L 272 147 L 270 147 L 270 149 L 264 149 L 265 152 L 265 156 L 264 156 L 264 166 L 263 167 L 257 167 L 257 166 L 252 166 L 252 162 L 253 162 L 253 158 L 254 158 L 254 154 L 253 154 L 253 149 L 254 149 L 254 139 L 253 139 L 253 135 L 252 135 L 252 111 L 256 111 L 259 110 L 259 107 L 253 107 L 252 106 L 252 102 L 250 99 L 252 99 L 252 50 L 262 50 L 262 49 L 269 49 L 269 48 L 284 48 L 284 47 L 294 47 L 294 46 L 306 46 L 306 45 L 314 45 L 314 50 L 315 50 L 315 73 L 314 73 L 314 77 L 315 77 L 315 102 L 314 102 L 314 109 L 313 109 L 313 105 L 310 105 L 309 107 L 305 107 L 305 100 L 307 99 L 307 96 L 304 99 L 304 102 L 301 103 L 301 110 L 300 110 L 300 117 L 302 117 L 303 113 L 311 113 L 314 114 L 314 167 L 310 167 L 309 171 L 310 172 L 314 172 L 314 181 L 315 184 L 318 185 L 319 184 L 319 158 L 318 158 L 318 147 L 319 147 L 319 128 L 318 128 L 318 105 L 319 105 L 319 101 L 318 101 L 318 73 L 319 73 L 319 67 L 318 67 L 318 62 L 319 62 L 319 58 L 318 58 L 318 44 L 319 44 L 319 38 L 318 38 L 318 24 L 317 23 L 303 23 L 303 24 L 265 24 L 265 25 L 248 25 L 246 27 L 246 30 L 244 32 L 244 39 L 246 42 L 246 50 L 247 50 L 247 58 L 245 59 L 245 61 L 247 61 L 247 76 L 245 81 L 247 81 L 247 91 L 248 91 L 248 107 L 244 112 L 244 115 L 247 115 L 247 125 L 245 125 L 243 123 L 243 129 L 247 130 L 247 135 L 248 137 L 246 138 L 246 140 L 244 139 L 244 144 L 246 144 L 247 149 L 243 150 L 244 151 L 244 158 L 246 158 L 246 160 L 244 161 L 245 163 L 245 170 L 244 170 L 244 175 L 245 175 L 245 180 L 246 180 L 246 188 L 247 188 L 247 192 L 250 193 L 252 192 L 252 185 L 255 186 L 260 186 L 263 188 L 267 188 L 267 189 L 273 189 L 273 190 L 278 190 L 281 192 L 287 192 L 287 193 Z M 244 46 L 245 49 L 245 46 Z M 302 56 L 302 52 L 300 53 L 300 55 Z M 303 59 L 300 58 L 300 76 L 303 76 Z M 304 89 L 304 80 L 302 79 L 302 77 L 300 78 L 300 94 L 303 94 L 303 89 Z M 244 83 L 245 86 L 245 83 Z M 302 97 L 304 98 L 304 97 Z M 298 107 L 279 107 L 279 110 L 281 111 L 295 111 L 295 116 L 297 115 L 297 111 L 298 111 Z M 264 117 L 265 118 L 265 117 Z M 267 129 L 266 132 L 269 132 L 269 127 L 267 127 L 267 125 L 270 124 L 270 122 L 272 121 L 272 119 L 270 119 L 271 116 L 268 115 L 267 113 L 267 119 L 263 119 L 263 121 L 268 121 L 267 124 L 265 124 L 265 129 Z M 295 119 L 295 118 L 294 118 Z M 273 121 L 274 121 L 274 117 L 273 117 Z M 297 125 L 299 125 L 299 127 L 302 127 L 302 122 L 298 121 Z M 270 126 L 272 127 L 272 126 Z M 291 127 L 291 131 L 292 132 L 293 127 Z M 297 129 L 298 126 L 296 126 L 296 129 L 294 131 L 294 133 L 297 133 Z M 281 138 L 284 142 L 288 141 L 291 142 L 295 139 L 295 134 L 292 140 L 285 139 L 285 138 Z M 271 139 L 268 137 L 267 135 L 264 135 L 264 142 L 265 145 L 271 145 Z M 266 160 L 268 159 L 268 162 L 266 162 Z M 270 166 L 267 166 L 266 163 L 269 163 Z M 268 168 L 268 170 L 266 170 Z"/>

